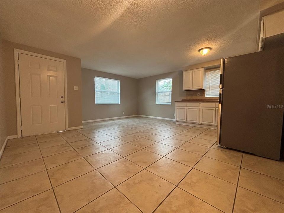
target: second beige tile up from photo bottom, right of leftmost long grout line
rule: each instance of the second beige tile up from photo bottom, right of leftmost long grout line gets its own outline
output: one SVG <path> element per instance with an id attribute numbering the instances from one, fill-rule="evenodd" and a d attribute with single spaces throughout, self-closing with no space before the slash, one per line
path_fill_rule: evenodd
<path id="1" fill-rule="evenodd" d="M 53 187 L 77 178 L 94 168 L 83 158 L 47 170 Z"/>

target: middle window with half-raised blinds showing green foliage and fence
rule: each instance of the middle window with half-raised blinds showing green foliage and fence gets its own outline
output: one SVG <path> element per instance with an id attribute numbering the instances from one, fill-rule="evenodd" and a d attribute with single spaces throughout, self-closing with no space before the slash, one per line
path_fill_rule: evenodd
<path id="1" fill-rule="evenodd" d="M 156 104 L 172 104 L 172 78 L 156 80 Z"/>

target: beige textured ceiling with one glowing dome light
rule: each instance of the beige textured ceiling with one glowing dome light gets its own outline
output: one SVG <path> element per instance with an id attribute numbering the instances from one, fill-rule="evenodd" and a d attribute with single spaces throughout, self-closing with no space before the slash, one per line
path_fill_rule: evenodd
<path id="1" fill-rule="evenodd" d="M 133 78 L 257 48 L 259 1 L 0 2 L 3 39 Z"/>

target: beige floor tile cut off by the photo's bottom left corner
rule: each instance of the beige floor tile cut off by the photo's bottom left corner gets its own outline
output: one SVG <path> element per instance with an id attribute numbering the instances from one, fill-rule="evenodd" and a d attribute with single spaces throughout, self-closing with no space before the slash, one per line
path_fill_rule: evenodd
<path id="1" fill-rule="evenodd" d="M 6 209 L 1 209 L 1 213 L 59 213 L 53 191 L 50 189 L 29 199 L 14 204 Z"/>

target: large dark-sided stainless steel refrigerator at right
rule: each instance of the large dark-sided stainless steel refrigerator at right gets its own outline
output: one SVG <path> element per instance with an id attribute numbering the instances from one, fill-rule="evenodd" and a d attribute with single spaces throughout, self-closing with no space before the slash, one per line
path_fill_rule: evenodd
<path id="1" fill-rule="evenodd" d="M 217 144 L 279 160 L 284 48 L 221 59 Z"/>

